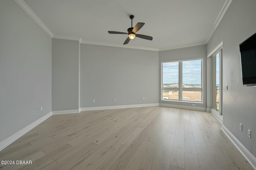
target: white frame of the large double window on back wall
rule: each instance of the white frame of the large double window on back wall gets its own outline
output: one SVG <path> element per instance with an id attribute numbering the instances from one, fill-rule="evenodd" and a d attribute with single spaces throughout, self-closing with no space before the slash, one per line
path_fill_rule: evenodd
<path id="1" fill-rule="evenodd" d="M 201 88 L 184 88 L 182 85 L 182 62 L 183 61 L 193 61 L 193 60 L 201 60 Z M 188 103 L 200 103 L 203 104 L 203 61 L 202 57 L 200 58 L 193 58 L 193 59 L 182 59 L 182 60 L 172 60 L 172 61 L 162 61 L 161 62 L 161 101 L 170 101 L 170 102 L 188 102 Z M 163 63 L 172 63 L 172 62 L 179 62 L 178 63 L 178 88 L 170 88 L 170 87 L 163 87 Z M 163 99 L 163 90 L 166 91 L 178 91 L 179 92 L 179 99 L 172 100 L 172 99 Z M 184 91 L 194 91 L 194 92 L 201 92 L 201 101 L 184 101 L 182 99 L 182 92 Z"/>

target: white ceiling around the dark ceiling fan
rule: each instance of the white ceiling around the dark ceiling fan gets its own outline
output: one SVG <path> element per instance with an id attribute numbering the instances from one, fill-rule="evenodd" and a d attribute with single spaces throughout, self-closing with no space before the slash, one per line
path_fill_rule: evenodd
<path id="1" fill-rule="evenodd" d="M 82 38 L 82 43 L 151 50 L 206 44 L 230 0 L 24 0 L 54 38 Z M 145 25 L 123 45 L 130 15 Z"/>

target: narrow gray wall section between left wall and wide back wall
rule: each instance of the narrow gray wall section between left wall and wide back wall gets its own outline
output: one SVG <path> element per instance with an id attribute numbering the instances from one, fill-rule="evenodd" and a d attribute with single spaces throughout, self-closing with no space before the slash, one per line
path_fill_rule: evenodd
<path id="1" fill-rule="evenodd" d="M 52 39 L 52 111 L 78 109 L 79 41 Z"/>

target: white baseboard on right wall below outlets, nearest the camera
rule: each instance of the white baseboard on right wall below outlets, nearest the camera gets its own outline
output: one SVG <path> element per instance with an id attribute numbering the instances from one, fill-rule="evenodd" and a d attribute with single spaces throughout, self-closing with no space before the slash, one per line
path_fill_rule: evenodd
<path id="1" fill-rule="evenodd" d="M 249 152 L 249 150 L 246 149 L 246 147 L 244 147 L 244 145 L 242 145 L 242 143 L 240 143 L 240 141 L 238 141 L 238 139 L 236 139 L 236 137 L 224 125 L 222 125 L 221 129 L 246 158 L 252 168 L 256 170 L 256 158 Z"/>

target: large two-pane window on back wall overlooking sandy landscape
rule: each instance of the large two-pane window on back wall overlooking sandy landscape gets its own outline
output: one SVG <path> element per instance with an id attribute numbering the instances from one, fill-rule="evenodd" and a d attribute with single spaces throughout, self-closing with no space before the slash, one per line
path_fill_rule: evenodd
<path id="1" fill-rule="evenodd" d="M 202 59 L 162 63 L 162 100 L 202 102 Z"/>

